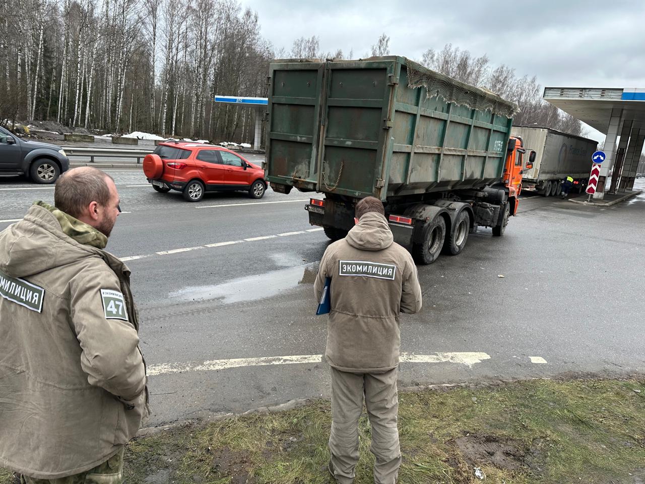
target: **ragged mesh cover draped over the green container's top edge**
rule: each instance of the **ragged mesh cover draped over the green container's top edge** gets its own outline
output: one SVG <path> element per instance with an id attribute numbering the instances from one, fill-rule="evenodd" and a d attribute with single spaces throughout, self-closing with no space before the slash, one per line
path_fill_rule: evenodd
<path id="1" fill-rule="evenodd" d="M 408 66 L 408 86 L 426 88 L 428 99 L 442 97 L 447 103 L 468 106 L 478 111 L 489 110 L 498 116 L 513 117 L 520 111 L 517 104 L 502 99 L 494 92 L 444 76 L 410 59 L 406 59 L 406 65 Z"/>

